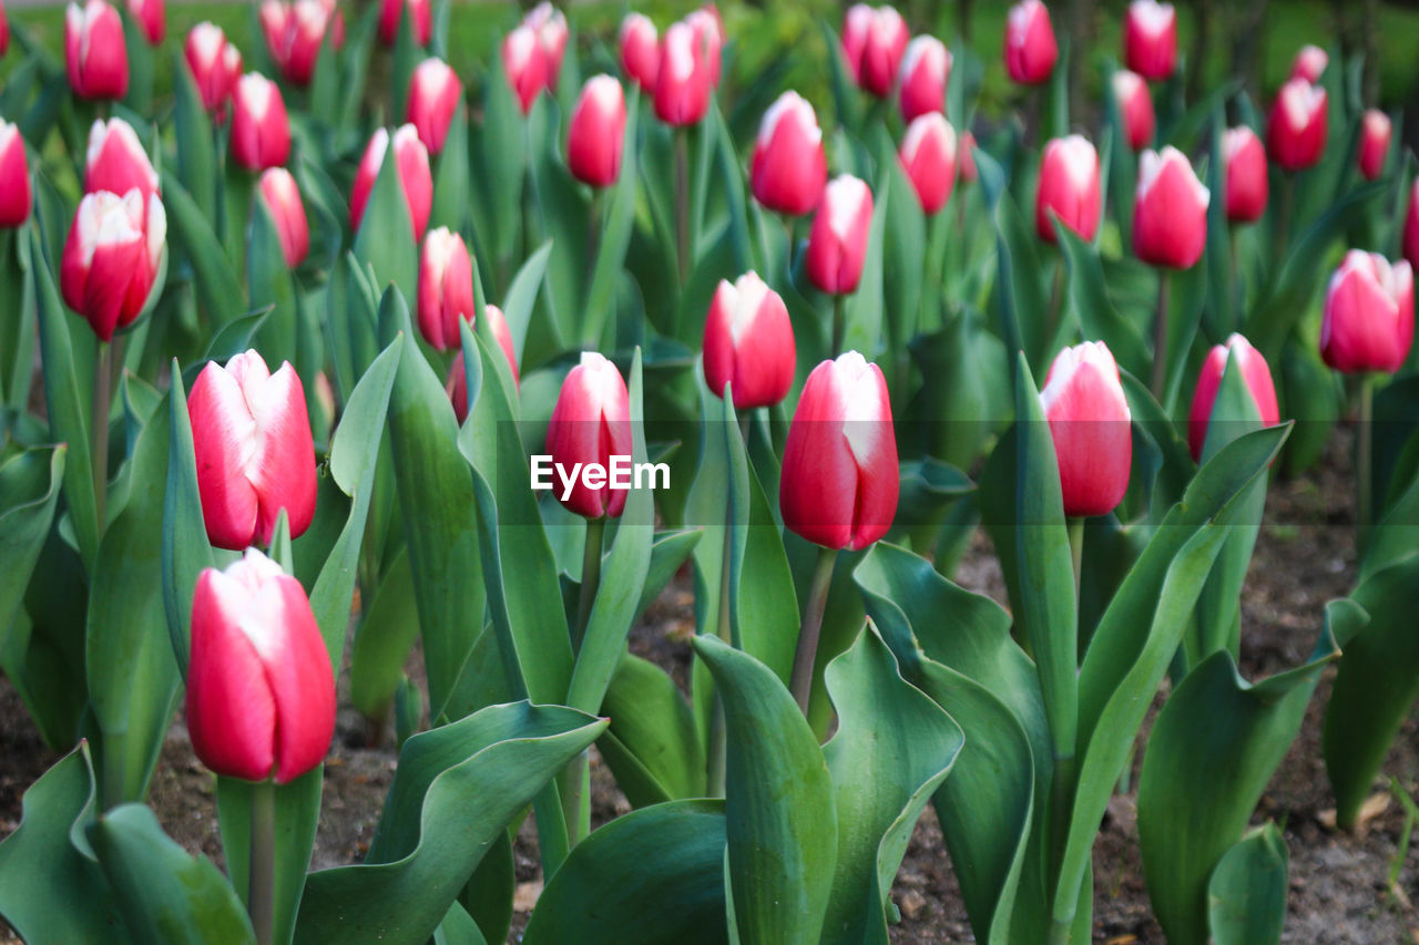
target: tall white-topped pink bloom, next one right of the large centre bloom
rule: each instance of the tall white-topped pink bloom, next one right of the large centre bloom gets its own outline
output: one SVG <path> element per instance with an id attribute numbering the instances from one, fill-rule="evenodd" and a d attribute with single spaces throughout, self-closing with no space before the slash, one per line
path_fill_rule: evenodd
<path id="1" fill-rule="evenodd" d="M 1060 467 L 1064 515 L 1108 515 L 1128 491 L 1132 429 L 1118 365 L 1104 342 L 1066 348 L 1040 392 Z"/>

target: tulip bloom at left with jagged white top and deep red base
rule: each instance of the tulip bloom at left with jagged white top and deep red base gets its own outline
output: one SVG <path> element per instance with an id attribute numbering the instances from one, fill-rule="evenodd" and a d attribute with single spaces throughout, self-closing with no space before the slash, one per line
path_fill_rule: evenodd
<path id="1" fill-rule="evenodd" d="M 87 193 L 74 211 L 60 288 L 99 341 L 133 324 L 148 304 L 167 241 L 167 217 L 158 194 Z"/>

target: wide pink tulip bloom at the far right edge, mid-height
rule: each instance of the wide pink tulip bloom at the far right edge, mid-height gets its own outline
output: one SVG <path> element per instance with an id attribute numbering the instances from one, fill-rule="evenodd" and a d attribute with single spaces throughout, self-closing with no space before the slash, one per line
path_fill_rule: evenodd
<path id="1" fill-rule="evenodd" d="M 1325 291 L 1321 358 L 1347 375 L 1395 372 L 1415 336 L 1415 278 L 1409 262 L 1351 250 Z"/>

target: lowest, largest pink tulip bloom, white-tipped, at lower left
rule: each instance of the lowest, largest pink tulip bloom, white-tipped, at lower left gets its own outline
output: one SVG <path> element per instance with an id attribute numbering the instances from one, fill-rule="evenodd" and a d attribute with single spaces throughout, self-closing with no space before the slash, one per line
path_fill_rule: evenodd
<path id="1" fill-rule="evenodd" d="M 255 549 L 197 575 L 187 734 L 201 763 L 285 785 L 335 735 L 335 673 L 305 589 Z"/>

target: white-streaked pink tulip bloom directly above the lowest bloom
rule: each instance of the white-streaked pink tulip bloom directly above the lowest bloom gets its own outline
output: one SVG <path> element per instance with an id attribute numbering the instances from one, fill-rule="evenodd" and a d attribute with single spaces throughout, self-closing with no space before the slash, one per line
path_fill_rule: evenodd
<path id="1" fill-rule="evenodd" d="M 207 538 L 270 545 L 285 509 L 291 538 L 315 518 L 315 446 L 305 389 L 289 362 L 272 375 L 254 350 L 209 362 L 187 394 Z"/>

